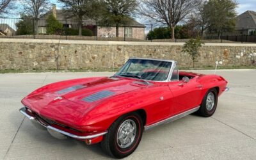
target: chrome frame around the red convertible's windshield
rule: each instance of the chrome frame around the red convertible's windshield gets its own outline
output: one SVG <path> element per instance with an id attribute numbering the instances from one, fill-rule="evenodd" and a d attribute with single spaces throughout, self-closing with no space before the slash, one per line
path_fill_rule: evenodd
<path id="1" fill-rule="evenodd" d="M 171 82 L 171 77 L 172 77 L 172 72 L 173 72 L 173 69 L 174 69 L 174 64 L 177 63 L 177 61 L 173 61 L 173 60 L 160 60 L 160 59 L 153 59 L 153 58 L 129 58 L 129 60 L 151 60 L 151 61 L 167 61 L 167 62 L 171 62 L 172 63 L 172 66 L 168 72 L 168 76 L 166 78 L 166 80 L 164 81 L 152 81 L 152 80 L 146 80 L 150 83 L 151 82 L 157 82 L 157 83 L 166 83 L 166 82 Z M 127 61 L 129 61 L 127 60 Z M 127 63 L 127 61 L 125 63 Z M 125 64 L 124 64 L 125 65 Z M 123 66 L 124 67 L 124 66 Z M 122 67 L 121 67 L 122 68 Z M 179 70 L 179 69 L 178 69 Z M 119 70 L 118 70 L 119 72 Z M 178 71 L 179 72 L 179 71 Z M 117 72 L 116 72 L 117 73 Z M 119 76 L 119 75 L 116 75 L 114 74 L 114 76 L 118 76 L 118 77 L 124 77 L 124 76 Z M 139 78 L 136 78 L 136 77 L 125 77 L 125 78 L 131 78 L 131 79 L 138 79 L 138 80 L 141 80 Z M 142 80 L 141 80 L 142 81 Z"/>

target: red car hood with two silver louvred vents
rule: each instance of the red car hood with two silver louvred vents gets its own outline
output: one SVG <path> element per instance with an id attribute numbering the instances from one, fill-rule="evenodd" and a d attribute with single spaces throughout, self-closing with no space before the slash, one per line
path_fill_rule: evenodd
<path id="1" fill-rule="evenodd" d="M 104 100 L 116 95 L 137 90 L 145 85 L 134 83 L 134 79 L 97 77 L 84 81 L 65 81 L 47 85 L 47 89 L 35 92 L 22 103 L 43 115 L 77 115 L 90 111 Z"/>

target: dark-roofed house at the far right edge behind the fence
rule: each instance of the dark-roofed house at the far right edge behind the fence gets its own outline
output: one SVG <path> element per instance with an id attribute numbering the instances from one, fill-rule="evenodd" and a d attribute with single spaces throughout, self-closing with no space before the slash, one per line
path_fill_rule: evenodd
<path id="1" fill-rule="evenodd" d="M 248 10 L 238 15 L 236 31 L 239 35 L 253 35 L 256 31 L 256 12 Z"/>

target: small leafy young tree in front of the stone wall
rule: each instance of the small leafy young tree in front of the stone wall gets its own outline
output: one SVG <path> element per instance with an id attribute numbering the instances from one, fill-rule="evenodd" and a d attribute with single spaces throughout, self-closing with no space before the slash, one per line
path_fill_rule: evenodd
<path id="1" fill-rule="evenodd" d="M 193 68 L 195 67 L 195 60 L 198 56 L 198 51 L 200 47 L 204 44 L 199 37 L 196 39 L 191 38 L 188 42 L 186 42 L 182 47 L 182 52 L 186 52 L 191 55 L 193 61 Z"/>

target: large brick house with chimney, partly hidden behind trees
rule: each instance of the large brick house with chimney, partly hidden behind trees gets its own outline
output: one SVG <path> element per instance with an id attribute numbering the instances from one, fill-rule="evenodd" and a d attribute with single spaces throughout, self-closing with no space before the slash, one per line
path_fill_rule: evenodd
<path id="1" fill-rule="evenodd" d="M 78 29 L 78 20 L 75 15 L 67 12 L 65 10 L 57 10 L 56 4 L 52 4 L 52 10 L 45 13 L 44 16 L 38 21 L 38 33 L 46 34 L 46 19 L 48 15 L 53 14 L 56 19 L 63 24 L 65 28 Z M 91 29 L 94 36 L 110 38 L 116 37 L 116 27 L 109 26 L 107 24 L 97 24 L 93 19 L 88 19 L 88 17 L 83 18 L 82 28 Z M 131 22 L 127 25 L 122 25 L 118 27 L 118 37 L 125 38 L 145 38 L 145 26 L 140 24 L 136 20 L 131 19 Z"/>

